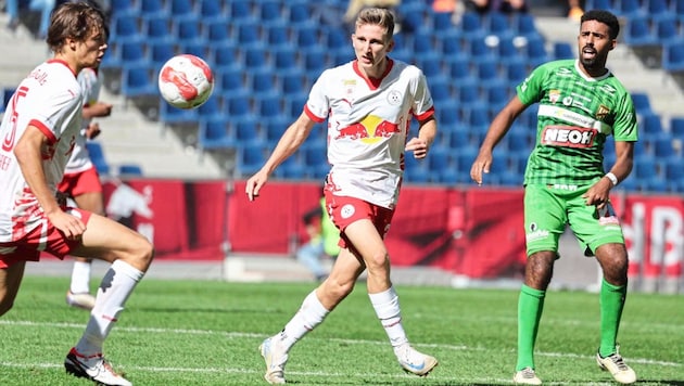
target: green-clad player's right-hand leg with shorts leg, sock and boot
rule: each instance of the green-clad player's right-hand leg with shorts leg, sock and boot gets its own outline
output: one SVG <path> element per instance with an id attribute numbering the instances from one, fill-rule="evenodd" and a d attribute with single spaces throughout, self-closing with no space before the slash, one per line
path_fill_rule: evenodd
<path id="1" fill-rule="evenodd" d="M 618 330 L 628 292 L 629 258 L 619 219 L 611 204 L 600 210 L 593 206 L 579 206 L 573 213 L 573 230 L 586 250 L 596 256 L 603 270 L 600 286 L 600 345 L 596 362 L 609 371 L 619 383 L 636 382 L 636 373 L 618 352 Z M 618 227 L 617 227 L 618 226 Z"/>

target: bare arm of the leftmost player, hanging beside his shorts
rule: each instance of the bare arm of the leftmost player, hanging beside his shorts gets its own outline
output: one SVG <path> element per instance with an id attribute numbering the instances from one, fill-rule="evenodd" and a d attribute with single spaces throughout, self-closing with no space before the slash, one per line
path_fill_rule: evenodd
<path id="1" fill-rule="evenodd" d="M 50 222 L 64 232 L 67 237 L 80 236 L 86 230 L 85 224 L 78 218 L 60 208 L 54 193 L 48 186 L 46 172 L 42 168 L 42 153 L 48 146 L 49 140 L 42 131 L 29 125 L 16 142 L 14 155 L 28 188 L 38 200 Z"/>

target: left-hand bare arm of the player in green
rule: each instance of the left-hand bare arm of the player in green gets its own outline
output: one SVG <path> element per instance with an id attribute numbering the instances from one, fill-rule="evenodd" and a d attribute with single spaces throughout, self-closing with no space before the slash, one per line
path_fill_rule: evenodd
<path id="1" fill-rule="evenodd" d="M 522 113 L 527 108 L 527 105 L 522 103 L 518 95 L 514 97 L 507 104 L 502 108 L 498 114 L 492 120 L 490 128 L 480 145 L 480 152 L 472 163 L 472 167 L 470 168 L 470 178 L 476 181 L 479 185 L 482 184 L 482 172 L 490 172 L 490 167 L 492 166 L 492 152 L 496 144 L 506 136 L 508 129 L 516 120 L 518 115 Z"/>

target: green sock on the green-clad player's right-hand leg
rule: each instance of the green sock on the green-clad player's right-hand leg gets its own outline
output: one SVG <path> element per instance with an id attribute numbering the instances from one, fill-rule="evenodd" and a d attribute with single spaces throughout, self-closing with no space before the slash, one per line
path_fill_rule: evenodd
<path id="1" fill-rule="evenodd" d="M 618 329 L 624 308 L 626 285 L 612 285 L 605 279 L 600 285 L 600 347 L 598 353 L 607 357 L 616 352 Z"/>

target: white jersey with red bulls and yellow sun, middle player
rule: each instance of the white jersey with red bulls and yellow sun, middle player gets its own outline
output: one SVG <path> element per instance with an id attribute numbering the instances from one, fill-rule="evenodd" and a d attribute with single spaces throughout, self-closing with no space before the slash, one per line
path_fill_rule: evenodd
<path id="1" fill-rule="evenodd" d="M 434 114 L 422 72 L 390 60 L 382 78 L 369 81 L 353 61 L 320 75 L 304 111 L 319 123 L 328 118 L 333 194 L 394 208 L 410 119 Z"/>

